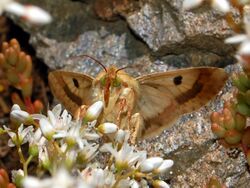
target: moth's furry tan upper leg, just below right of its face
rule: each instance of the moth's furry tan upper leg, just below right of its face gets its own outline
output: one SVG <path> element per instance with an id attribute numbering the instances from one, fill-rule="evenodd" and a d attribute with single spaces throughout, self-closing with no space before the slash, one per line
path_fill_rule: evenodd
<path id="1" fill-rule="evenodd" d="M 128 124 L 131 119 L 132 110 L 135 103 L 135 92 L 131 88 L 125 88 L 118 99 L 119 112 L 117 116 L 118 125 L 121 124 L 122 115 L 128 119 Z M 128 128 L 128 127 L 127 127 Z"/>

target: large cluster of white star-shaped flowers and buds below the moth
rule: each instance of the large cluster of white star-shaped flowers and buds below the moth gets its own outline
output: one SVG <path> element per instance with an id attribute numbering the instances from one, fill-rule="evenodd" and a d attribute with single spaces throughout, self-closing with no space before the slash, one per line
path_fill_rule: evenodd
<path id="1" fill-rule="evenodd" d="M 169 187 L 159 175 L 166 173 L 173 161 L 137 151 L 130 144 L 129 132 L 116 124 L 97 124 L 103 106 L 97 101 L 84 108 L 83 117 L 73 120 L 60 104 L 47 116 L 29 114 L 14 105 L 10 117 L 15 126 L 0 131 L 9 135 L 8 145 L 17 148 L 23 164 L 22 170 L 12 173 L 14 183 L 24 188 Z M 25 143 L 29 145 L 28 158 L 22 151 Z M 40 173 L 49 172 L 49 178 L 28 175 L 28 166 L 36 158 Z"/>

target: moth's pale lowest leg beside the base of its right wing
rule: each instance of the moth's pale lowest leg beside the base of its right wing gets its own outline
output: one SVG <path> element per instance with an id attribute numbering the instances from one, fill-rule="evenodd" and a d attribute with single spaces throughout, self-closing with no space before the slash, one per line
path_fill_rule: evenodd
<path id="1" fill-rule="evenodd" d="M 135 113 L 131 116 L 131 120 L 129 123 L 129 132 L 130 142 L 132 144 L 135 144 L 136 140 L 141 137 L 143 126 L 143 118 L 140 113 Z"/>

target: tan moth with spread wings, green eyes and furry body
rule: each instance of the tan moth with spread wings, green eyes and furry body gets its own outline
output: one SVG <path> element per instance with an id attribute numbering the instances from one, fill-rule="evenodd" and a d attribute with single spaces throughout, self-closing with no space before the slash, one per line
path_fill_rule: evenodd
<path id="1" fill-rule="evenodd" d="M 131 129 L 135 139 L 158 135 L 179 116 L 198 110 L 221 90 L 228 78 L 223 69 L 214 67 L 137 78 L 114 66 L 103 68 L 96 78 L 53 71 L 49 74 L 51 91 L 71 113 L 83 104 L 102 100 L 105 107 L 99 121 Z"/>

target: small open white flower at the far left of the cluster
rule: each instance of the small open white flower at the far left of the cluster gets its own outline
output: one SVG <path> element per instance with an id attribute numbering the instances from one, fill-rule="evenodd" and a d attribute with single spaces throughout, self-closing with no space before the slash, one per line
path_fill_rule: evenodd
<path id="1" fill-rule="evenodd" d="M 14 147 L 16 145 L 22 145 L 28 142 L 30 139 L 31 133 L 34 130 L 32 126 L 28 126 L 24 129 L 24 125 L 21 124 L 18 128 L 17 134 L 12 132 L 8 127 L 4 126 L 5 131 L 7 131 L 10 136 L 10 140 L 8 141 L 9 147 Z"/>

